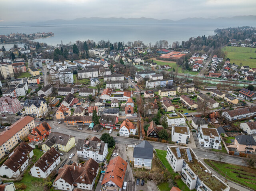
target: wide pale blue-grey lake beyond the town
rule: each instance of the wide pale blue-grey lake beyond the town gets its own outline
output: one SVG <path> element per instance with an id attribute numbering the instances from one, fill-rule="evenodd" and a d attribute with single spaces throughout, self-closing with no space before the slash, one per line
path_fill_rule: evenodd
<path id="1" fill-rule="evenodd" d="M 214 30 L 221 26 L 210 24 L 79 24 L 79 25 L 53 25 L 53 26 L 8 26 L 0 27 L 0 34 L 10 33 L 36 33 L 54 32 L 54 37 L 36 39 L 48 45 L 64 44 L 76 40 L 94 40 L 96 43 L 102 39 L 105 41 L 136 41 L 141 40 L 145 44 L 154 44 L 159 40 L 186 41 L 190 37 L 198 35 L 214 35 Z"/>

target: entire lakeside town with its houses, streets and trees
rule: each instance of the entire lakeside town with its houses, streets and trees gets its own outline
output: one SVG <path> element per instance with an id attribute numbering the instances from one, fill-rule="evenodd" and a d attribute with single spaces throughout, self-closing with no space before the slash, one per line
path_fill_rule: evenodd
<path id="1" fill-rule="evenodd" d="M 255 55 L 249 27 L 2 45 L 0 190 L 256 190 Z"/>

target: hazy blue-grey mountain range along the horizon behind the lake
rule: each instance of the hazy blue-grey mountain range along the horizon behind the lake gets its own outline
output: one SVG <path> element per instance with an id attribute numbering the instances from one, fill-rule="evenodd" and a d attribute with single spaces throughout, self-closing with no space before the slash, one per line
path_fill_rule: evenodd
<path id="1" fill-rule="evenodd" d="M 44 22 L 19 22 L 19 23 L 6 23 L 0 22 L 0 25 L 22 25 L 22 26 L 44 26 L 44 25 L 57 25 L 57 24 L 193 24 L 193 25 L 206 25 L 214 24 L 220 26 L 253 26 L 256 27 L 256 16 L 234 16 L 231 18 L 219 17 L 214 19 L 209 18 L 186 18 L 181 20 L 170 20 L 170 19 L 154 19 L 154 18 L 100 18 L 100 17 L 90 17 L 90 18 L 76 18 L 74 20 L 48 20 Z"/>

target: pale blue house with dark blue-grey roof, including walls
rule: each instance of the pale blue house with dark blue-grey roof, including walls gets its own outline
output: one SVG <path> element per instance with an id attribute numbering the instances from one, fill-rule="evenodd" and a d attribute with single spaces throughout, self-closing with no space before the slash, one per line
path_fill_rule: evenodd
<path id="1" fill-rule="evenodd" d="M 142 141 L 133 149 L 134 167 L 151 169 L 154 147 L 148 141 Z"/>

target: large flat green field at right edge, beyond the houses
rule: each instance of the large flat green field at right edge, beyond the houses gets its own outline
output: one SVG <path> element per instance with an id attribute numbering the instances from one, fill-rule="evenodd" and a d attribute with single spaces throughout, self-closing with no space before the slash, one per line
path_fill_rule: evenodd
<path id="1" fill-rule="evenodd" d="M 236 63 L 240 66 L 256 67 L 256 48 L 250 47 L 231 47 L 225 46 L 222 51 L 226 53 L 226 58 L 230 59 L 230 63 Z"/>

